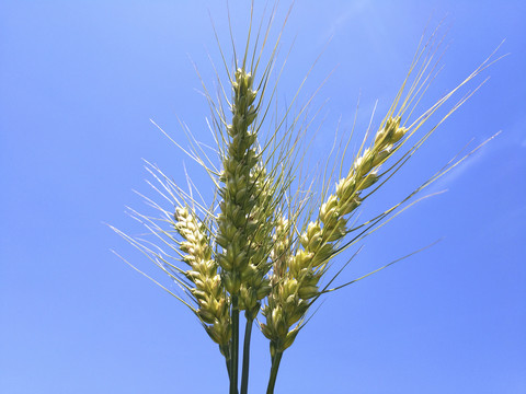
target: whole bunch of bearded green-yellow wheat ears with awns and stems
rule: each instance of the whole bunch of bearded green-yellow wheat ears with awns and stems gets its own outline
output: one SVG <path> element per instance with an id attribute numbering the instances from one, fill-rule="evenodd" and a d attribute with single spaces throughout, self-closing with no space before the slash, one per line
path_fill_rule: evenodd
<path id="1" fill-rule="evenodd" d="M 283 27 L 271 47 L 268 60 L 261 66 L 274 16 L 275 10 L 266 20 L 262 18 L 253 37 L 251 18 L 242 57 L 238 58 L 232 48 L 233 67 L 228 65 L 221 49 L 228 83 L 221 84 L 217 79 L 218 97 L 213 97 L 204 86 L 211 108 L 209 125 L 217 142 L 219 165 L 193 137 L 191 149 L 185 151 L 210 175 L 216 187 L 214 201 L 208 205 L 198 201 L 193 193 L 184 192 L 148 163 L 148 171 L 161 186 L 153 187 L 172 208 L 164 209 L 148 199 L 161 217 L 152 218 L 134 210 L 132 213 L 157 242 L 132 237 L 114 229 L 179 285 L 180 291 L 172 291 L 156 281 L 195 314 L 219 346 L 226 360 L 230 394 L 238 393 L 240 375 L 240 313 L 244 312 L 245 329 L 239 391 L 248 392 L 250 341 L 256 321 L 270 340 L 272 362 L 267 393 L 273 393 L 282 356 L 304 328 L 312 304 L 320 296 L 362 279 L 331 288 L 350 262 L 329 275 L 333 258 L 413 204 L 416 193 L 471 153 L 450 161 L 396 206 L 357 222 L 356 212 L 363 201 L 377 193 L 472 92 L 451 105 L 420 137 L 416 138 L 415 132 L 460 86 L 490 65 L 487 59 L 457 88 L 414 116 L 437 71 L 433 59 L 441 39 L 435 31 L 419 45 L 408 76 L 377 131 L 365 132 L 353 164 L 343 174 L 340 171 L 335 185 L 331 181 L 335 172 L 325 167 L 319 177 L 321 192 L 317 193 L 315 182 L 307 186 L 307 182 L 297 176 L 305 158 L 298 151 L 309 125 L 308 117 L 304 116 L 309 103 L 286 121 L 296 95 L 285 115 L 281 118 L 276 115 L 266 140 L 259 139 L 261 130 L 267 127 L 265 120 L 270 118 L 267 113 L 279 81 L 278 74 L 276 85 L 270 86 Z M 266 28 L 262 28 L 264 25 Z M 227 92 L 231 93 L 230 97 Z M 340 155 L 342 164 L 347 144 Z"/>

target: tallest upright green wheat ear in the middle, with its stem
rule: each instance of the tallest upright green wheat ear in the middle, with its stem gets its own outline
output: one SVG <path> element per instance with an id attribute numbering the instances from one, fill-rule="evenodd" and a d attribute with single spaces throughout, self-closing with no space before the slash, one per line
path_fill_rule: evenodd
<path id="1" fill-rule="evenodd" d="M 231 361 L 228 371 L 231 394 L 237 393 L 238 385 L 239 311 L 240 306 L 244 306 L 240 305 L 240 301 L 248 301 L 250 289 L 244 288 L 242 297 L 240 292 L 243 281 L 254 275 L 251 240 L 254 239 L 259 224 L 251 217 L 258 202 L 258 190 L 252 177 L 258 157 L 256 134 L 250 127 L 256 117 L 254 100 L 258 93 L 252 89 L 253 76 L 250 72 L 239 68 L 233 77 L 230 108 L 232 121 L 226 126 L 229 140 L 221 158 L 222 173 L 219 181 L 222 187 L 219 196 L 222 200 L 219 204 L 216 235 L 216 242 L 221 247 L 216 262 L 222 268 L 222 283 L 230 296 L 232 340 L 229 345 Z"/>

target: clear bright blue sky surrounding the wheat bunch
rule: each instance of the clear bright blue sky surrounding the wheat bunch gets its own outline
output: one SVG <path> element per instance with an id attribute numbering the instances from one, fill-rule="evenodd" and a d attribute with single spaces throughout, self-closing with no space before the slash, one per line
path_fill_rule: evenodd
<path id="1" fill-rule="evenodd" d="M 244 3 L 231 1 L 240 32 Z M 0 393 L 226 392 L 216 346 L 110 252 L 164 279 L 103 224 L 140 231 L 124 207 L 144 208 L 133 189 L 150 193 L 142 158 L 181 184 L 182 163 L 193 171 L 149 119 L 184 142 L 179 116 L 206 138 L 188 58 L 211 83 L 207 51 L 219 59 L 207 10 L 228 43 L 224 1 L 2 1 Z M 446 14 L 450 47 L 430 101 L 504 38 L 500 54 L 511 55 L 367 209 L 395 202 L 471 138 L 503 134 L 430 189 L 448 193 L 364 242 L 347 279 L 444 236 L 328 297 L 285 352 L 277 393 L 526 393 L 524 2 L 297 1 L 279 99 L 291 99 L 332 36 L 306 86 L 338 66 L 318 95 L 329 99 L 319 148 L 330 149 L 340 116 L 348 129 L 359 92 L 363 132 L 375 100 L 381 114 L 396 93 L 427 21 Z M 263 393 L 267 343 L 258 333 L 253 345 L 251 389 Z"/>

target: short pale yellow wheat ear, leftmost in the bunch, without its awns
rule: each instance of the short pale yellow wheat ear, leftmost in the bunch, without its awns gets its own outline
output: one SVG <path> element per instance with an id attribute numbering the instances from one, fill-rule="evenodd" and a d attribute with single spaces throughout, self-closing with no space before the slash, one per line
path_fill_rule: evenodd
<path id="1" fill-rule="evenodd" d="M 195 286 L 191 292 L 198 304 L 196 314 L 204 322 L 210 338 L 221 348 L 230 340 L 231 324 L 228 298 L 218 274 L 218 265 L 211 258 L 209 239 L 204 225 L 197 222 L 187 208 L 176 208 L 174 217 L 175 230 L 184 240 L 179 245 L 184 253 L 183 260 L 190 266 L 185 276 Z"/>

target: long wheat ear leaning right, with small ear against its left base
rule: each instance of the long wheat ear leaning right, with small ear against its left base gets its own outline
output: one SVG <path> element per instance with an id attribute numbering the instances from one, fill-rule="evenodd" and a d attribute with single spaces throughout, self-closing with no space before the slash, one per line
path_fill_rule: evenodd
<path id="1" fill-rule="evenodd" d="M 310 301 L 319 296 L 319 281 L 336 253 L 335 244 L 347 234 L 346 216 L 359 206 L 362 190 L 377 182 L 378 167 L 405 132 L 399 117 L 386 121 L 373 146 L 355 158 L 347 176 L 338 183 L 336 193 L 327 197 L 318 219 L 300 234 L 296 253 L 286 251 L 291 241 L 284 239 L 286 221 L 282 220 L 276 230 L 279 242 L 273 252 L 273 289 L 263 310 L 266 323 L 262 324 L 275 351 L 283 352 L 294 343 L 300 325 L 293 326 L 305 318 Z"/>

